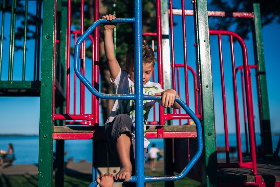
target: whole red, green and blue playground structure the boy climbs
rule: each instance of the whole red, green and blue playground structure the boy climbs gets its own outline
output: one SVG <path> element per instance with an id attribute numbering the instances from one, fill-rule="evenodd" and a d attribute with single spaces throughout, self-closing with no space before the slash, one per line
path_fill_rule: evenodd
<path id="1" fill-rule="evenodd" d="M 16 7 L 15 0 L 12 1 L 11 7 Z M 28 7 L 29 1 L 24 1 Z M 139 1 L 137 1 L 139 2 Z M 55 185 L 63 186 L 63 174 L 64 174 L 64 140 L 65 139 L 93 139 L 94 141 L 94 155 L 93 155 L 93 179 L 97 176 L 97 167 L 100 160 L 97 160 L 98 144 L 102 141 L 104 136 L 104 127 L 99 126 L 99 98 L 111 99 L 119 98 L 116 95 L 104 95 L 99 93 L 99 24 L 105 23 L 105 20 L 98 20 L 99 18 L 99 2 L 94 1 L 94 17 L 95 22 L 91 28 L 85 30 L 83 28 L 83 7 L 84 2 L 81 1 L 81 30 L 71 30 L 71 1 L 36 1 L 37 7 L 37 26 L 36 26 L 36 39 L 34 41 L 34 65 L 32 80 L 27 81 L 25 78 L 26 69 L 26 48 L 23 47 L 23 65 L 22 65 L 22 79 L 13 80 L 14 72 L 14 45 L 15 45 L 15 16 L 16 12 L 11 9 L 10 16 L 10 48 L 9 58 L 3 59 L 3 46 L 4 46 L 4 24 L 6 10 L 5 1 L 1 4 L 1 58 L 0 58 L 0 77 L 4 72 L 4 63 L 8 62 L 7 66 L 7 80 L 0 80 L 0 94 L 2 96 L 40 96 L 40 140 L 39 140 L 39 174 L 38 182 L 39 186 L 51 186 L 52 185 L 52 171 L 53 171 L 53 140 L 56 140 L 56 173 L 55 173 Z M 270 117 L 267 98 L 267 85 L 265 78 L 265 64 L 263 55 L 262 44 L 262 28 L 260 23 L 259 4 L 252 4 L 253 12 L 249 13 L 232 13 L 231 16 L 251 19 L 253 22 L 253 36 L 254 36 L 254 50 L 255 50 L 255 62 L 249 64 L 247 49 L 245 42 L 237 34 L 230 31 L 216 31 L 209 30 L 209 16 L 225 16 L 224 12 L 208 11 L 206 0 L 192 1 L 193 10 L 185 10 L 182 1 L 182 10 L 173 9 L 172 0 L 169 1 L 157 1 L 156 2 L 156 16 L 157 16 L 157 32 L 156 33 L 143 33 L 141 31 L 141 3 L 135 3 L 133 18 L 118 18 L 114 22 L 119 24 L 134 24 L 135 29 L 135 46 L 136 52 L 139 55 L 135 55 L 135 62 L 141 62 L 141 42 L 146 35 L 154 36 L 157 41 L 157 68 L 158 68 L 158 82 L 163 85 L 165 89 L 175 89 L 182 100 L 177 99 L 181 103 L 186 113 L 181 110 L 173 110 L 173 112 L 164 111 L 163 107 L 158 109 L 158 119 L 156 118 L 156 112 L 154 110 L 154 120 L 150 121 L 151 126 L 147 130 L 146 136 L 148 138 L 166 138 L 165 149 L 169 149 L 166 152 L 171 153 L 165 155 L 165 174 L 173 175 L 174 171 L 181 173 L 172 177 L 150 177 L 144 176 L 143 158 L 136 160 L 136 165 L 139 168 L 136 176 L 132 177 L 132 182 L 136 182 L 137 186 L 144 186 L 145 181 L 167 181 L 167 186 L 172 185 L 173 180 L 180 179 L 186 173 L 189 177 L 195 180 L 201 181 L 203 186 L 280 186 L 280 181 L 275 178 L 274 181 L 264 179 L 258 172 L 257 167 L 257 155 L 267 160 L 273 156 L 271 130 L 270 130 Z M 42 6 L 43 5 L 43 6 Z M 25 10 L 28 8 L 25 7 Z M 43 7 L 43 9 L 42 9 Z M 169 8 L 168 8 L 169 7 Z M 41 23 L 41 17 L 42 23 Z M 182 40 L 183 40 L 183 63 L 175 63 L 175 46 L 174 40 L 174 25 L 173 16 L 182 16 Z M 187 60 L 187 42 L 186 42 L 186 16 L 193 16 L 194 31 L 195 31 L 195 51 L 196 51 L 196 67 L 188 65 Z M 27 38 L 27 20 L 28 11 L 25 12 L 24 18 L 24 38 Z M 169 22 L 170 20 L 170 22 Z M 42 29 L 41 29 L 42 24 Z M 169 25 L 170 24 L 170 25 Z M 170 33 L 169 33 L 170 27 Z M 163 38 L 162 35 L 170 35 L 168 38 Z M 220 80 L 221 80 L 221 92 L 223 102 L 223 122 L 225 133 L 225 152 L 226 160 L 224 163 L 217 162 L 217 146 L 216 146 L 216 129 L 215 129 L 215 112 L 214 112 L 214 93 L 213 93 L 213 76 L 214 71 L 213 60 L 211 60 L 212 48 L 210 50 L 210 37 L 217 36 L 218 51 L 219 51 L 219 64 L 220 64 Z M 230 43 L 230 63 L 231 63 L 231 78 L 234 90 L 234 113 L 236 123 L 236 137 L 237 137 L 237 161 L 232 161 L 229 156 L 230 145 L 228 140 L 228 120 L 227 120 L 227 100 L 225 93 L 225 75 L 224 75 L 224 60 L 222 52 L 222 37 L 226 35 L 229 38 Z M 74 42 L 71 37 L 74 36 Z M 40 40 L 39 40 L 40 38 Z M 86 59 L 85 59 L 85 41 L 86 43 L 92 43 L 92 61 L 89 63 L 92 65 L 91 73 L 88 78 L 85 74 Z M 236 49 L 234 40 L 237 40 L 240 44 L 242 51 L 242 65 L 237 66 L 237 60 L 235 57 L 234 49 Z M 212 39 L 211 39 L 212 41 Z M 40 47 L 40 42 L 41 47 Z M 26 39 L 24 39 L 24 46 L 26 46 Z M 75 45 L 76 44 L 76 45 Z M 74 62 L 71 61 L 70 47 L 75 45 Z M 41 49 L 41 50 L 40 50 Z M 40 60 L 41 52 L 41 60 Z M 189 53 L 188 53 L 189 54 Z M 170 59 L 170 60 L 169 60 Z M 171 62 L 171 68 L 170 68 Z M 136 63 L 136 90 L 139 92 L 136 95 L 121 96 L 123 99 L 133 99 L 139 102 L 139 106 L 143 102 L 143 99 L 158 100 L 158 97 L 143 96 L 141 93 L 141 63 Z M 74 68 L 71 69 L 72 67 Z M 41 71 L 40 71 L 41 68 Z M 181 85 L 181 71 L 183 69 L 184 84 Z M 189 71 L 187 70 L 189 69 Z M 194 71 L 197 69 L 197 71 Z M 176 71 L 177 70 L 177 71 Z M 240 107 L 238 88 L 237 88 L 237 73 L 242 72 L 241 89 L 242 89 L 242 107 Z M 251 71 L 255 71 L 256 74 L 256 88 L 252 90 L 252 77 Z M 190 73 L 191 72 L 191 73 Z M 41 80 L 39 75 L 41 73 Z M 190 74 L 193 76 L 193 88 L 190 88 Z M 76 76 L 79 80 L 76 79 Z M 180 77 L 179 78 L 176 78 Z M 73 79 L 73 80 L 72 80 Z M 90 81 L 88 81 L 90 80 Z M 171 82 L 172 80 L 172 82 Z M 177 82 L 176 82 L 177 80 Z M 71 82 L 73 81 L 73 82 Z M 80 87 L 77 86 L 80 83 Z M 171 86 L 172 85 L 172 86 Z M 79 88 L 78 88 L 79 87 Z M 85 88 L 86 87 L 86 88 Z M 184 88 L 184 91 L 180 88 Z M 88 94 L 88 90 L 91 93 L 91 101 L 86 101 L 85 95 Z M 71 93 L 73 91 L 73 93 Z M 78 93 L 77 93 L 78 92 Z M 254 109 L 253 109 L 253 92 L 258 95 L 259 111 L 255 113 L 259 114 L 259 124 L 262 134 L 261 151 L 256 152 L 255 134 L 254 134 Z M 192 94 L 190 94 L 192 93 Z M 72 95 L 73 94 L 73 97 Z M 185 94 L 185 98 L 183 98 Z M 77 95 L 80 96 L 77 101 Z M 189 109 L 190 95 L 193 95 L 194 107 Z M 73 98 L 73 104 L 71 99 Z M 79 103 L 79 106 L 76 106 Z M 85 103 L 91 103 L 91 111 L 86 112 Z M 72 106 L 73 105 L 73 106 Z M 80 108 L 77 112 L 76 108 Z M 154 107 L 155 108 L 155 107 Z M 242 113 L 240 109 L 242 108 Z M 143 113 L 140 112 L 141 107 L 136 110 L 136 117 L 141 121 Z M 244 116 L 244 120 L 241 120 L 239 116 Z M 182 125 L 182 120 L 186 120 L 189 124 L 189 119 L 195 121 L 194 125 Z M 171 125 L 171 121 L 178 120 L 179 125 Z M 200 120 L 200 121 L 198 121 Z M 216 119 L 217 120 L 217 119 Z M 136 120 L 136 127 L 140 125 L 140 121 Z M 240 121 L 245 124 L 246 132 L 246 151 L 244 152 L 241 145 L 240 134 Z M 200 130 L 200 123 L 202 124 L 202 130 Z M 168 124 L 168 125 L 167 125 Z M 74 126 L 75 125 L 75 126 Z M 141 126 L 139 126 L 141 127 Z M 247 129 L 248 128 L 248 129 Z M 143 128 L 139 128 L 143 129 Z M 203 151 L 200 156 L 201 144 L 200 133 L 203 137 Z M 248 133 L 248 139 L 247 139 Z M 143 134 L 143 132 L 139 132 Z M 137 138 L 137 137 L 136 137 Z M 172 146 L 172 138 L 174 138 L 174 148 Z M 140 136 L 137 138 L 140 139 Z M 136 141 L 137 141 L 136 139 Z M 140 139 L 141 140 L 141 139 Z M 137 141 L 136 146 L 143 147 L 143 141 Z M 207 146 L 205 146 L 207 145 Z M 198 148 L 197 148 L 198 147 Z M 174 163 L 173 159 L 174 150 Z M 179 151 L 180 150 L 180 151 Z M 136 152 L 136 155 L 141 154 L 142 149 Z M 183 152 L 183 153 L 182 153 Z M 187 155 L 187 156 L 186 156 Z M 249 158 L 244 156 L 249 156 Z M 190 161 L 189 161 L 190 160 Z M 195 163 L 196 162 L 196 163 Z M 171 163 L 171 164 L 170 164 Z M 193 166 L 195 164 L 195 166 Z M 174 165 L 174 167 L 173 167 Z M 185 168 L 185 166 L 187 166 Z M 192 168 L 192 169 L 191 169 Z M 239 181 L 235 178 L 235 181 L 228 180 L 232 175 L 223 174 L 225 168 L 245 168 L 247 173 L 253 177 L 247 177 L 244 181 Z M 219 172 L 218 172 L 219 169 Z M 251 171 L 250 171 L 251 169 Z M 189 170 L 191 170 L 189 172 Z M 222 174 L 221 174 L 222 173 Z M 94 184 L 92 184 L 94 185 Z"/>

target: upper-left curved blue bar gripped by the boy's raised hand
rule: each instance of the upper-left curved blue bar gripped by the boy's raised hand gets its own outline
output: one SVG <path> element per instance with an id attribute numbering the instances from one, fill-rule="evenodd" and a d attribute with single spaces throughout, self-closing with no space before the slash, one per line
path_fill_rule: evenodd
<path id="1" fill-rule="evenodd" d="M 99 25 L 99 24 L 108 24 L 109 21 L 106 19 L 99 19 L 95 21 L 84 33 L 81 35 L 81 37 L 77 40 L 77 43 L 75 45 L 75 51 L 74 51 L 74 71 L 77 75 L 77 77 L 83 82 L 83 84 L 88 88 L 88 90 L 94 94 L 95 96 L 98 96 L 99 98 L 102 99 L 131 99 L 135 100 L 136 96 L 131 95 L 131 94 L 123 94 L 123 95 L 115 95 L 115 94 L 100 94 L 81 73 L 80 71 L 80 48 L 85 41 L 85 39 L 91 34 L 91 32 L 94 31 L 94 29 Z M 113 21 L 110 21 L 109 23 L 134 23 L 135 18 L 116 18 Z"/>

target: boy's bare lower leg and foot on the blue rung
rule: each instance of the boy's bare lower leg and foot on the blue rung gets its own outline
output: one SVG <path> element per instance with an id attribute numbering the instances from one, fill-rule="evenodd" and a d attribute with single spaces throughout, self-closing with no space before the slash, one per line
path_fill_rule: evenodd
<path id="1" fill-rule="evenodd" d="M 121 134 L 117 141 L 117 152 L 119 155 L 119 160 L 121 163 L 121 169 L 116 174 L 116 180 L 124 179 L 125 181 L 129 181 L 131 177 L 131 162 L 130 162 L 130 137 L 128 134 Z"/>

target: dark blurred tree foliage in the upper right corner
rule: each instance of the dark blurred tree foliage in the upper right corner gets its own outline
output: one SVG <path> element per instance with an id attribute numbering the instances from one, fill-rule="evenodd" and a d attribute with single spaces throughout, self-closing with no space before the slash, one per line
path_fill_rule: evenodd
<path id="1" fill-rule="evenodd" d="M 277 21 L 280 23 L 280 0 L 254 0 L 260 3 L 262 16 L 262 26 Z M 252 1 L 243 0 L 211 0 L 209 9 L 225 12 L 252 12 Z M 246 18 L 218 18 L 211 17 L 209 19 L 210 29 L 228 30 L 233 29 L 243 39 L 248 39 L 248 34 L 251 32 L 251 20 Z"/>

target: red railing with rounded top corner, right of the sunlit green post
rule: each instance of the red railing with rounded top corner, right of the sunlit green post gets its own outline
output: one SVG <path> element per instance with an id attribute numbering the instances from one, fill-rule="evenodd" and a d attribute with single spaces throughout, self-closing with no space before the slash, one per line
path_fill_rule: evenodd
<path id="1" fill-rule="evenodd" d="M 236 119 L 236 133 L 237 133 L 237 149 L 238 149 L 238 163 L 230 163 L 229 160 L 229 143 L 228 143 L 228 132 L 227 132 L 227 119 L 224 117 L 225 123 L 225 139 L 226 139 L 226 152 L 227 159 L 226 163 L 219 163 L 219 168 L 250 168 L 251 172 L 256 174 L 256 147 L 255 147 L 255 135 L 254 135 L 254 123 L 253 123 L 253 99 L 252 99 L 252 87 L 251 87 L 251 77 L 250 77 L 250 68 L 248 65 L 248 56 L 247 56 L 247 48 L 245 42 L 242 38 L 234 32 L 230 31 L 215 31 L 210 30 L 210 35 L 218 36 L 219 43 L 219 54 L 220 54 L 220 70 L 221 70 L 221 80 L 222 80 L 222 94 L 223 94 L 223 111 L 224 116 L 226 116 L 226 105 L 225 105 L 225 93 L 223 90 L 225 89 L 224 74 L 223 74 L 223 58 L 222 58 L 222 50 L 221 50 L 221 35 L 228 35 L 230 37 L 230 45 L 231 45 L 231 64 L 232 64 L 232 72 L 233 72 L 233 86 L 234 86 L 234 106 L 235 106 L 235 119 Z M 245 99 L 246 99 L 246 111 L 248 118 L 248 133 L 250 140 L 250 153 L 251 153 L 251 161 L 243 162 L 242 161 L 242 149 L 241 149 L 241 135 L 240 135 L 240 124 L 239 124 L 239 110 L 238 110 L 238 96 L 237 96 L 237 84 L 236 84 L 236 72 L 235 72 L 235 61 L 234 61 L 234 45 L 233 38 L 235 38 L 242 49 L 242 59 L 244 66 L 244 82 L 245 82 Z"/>

